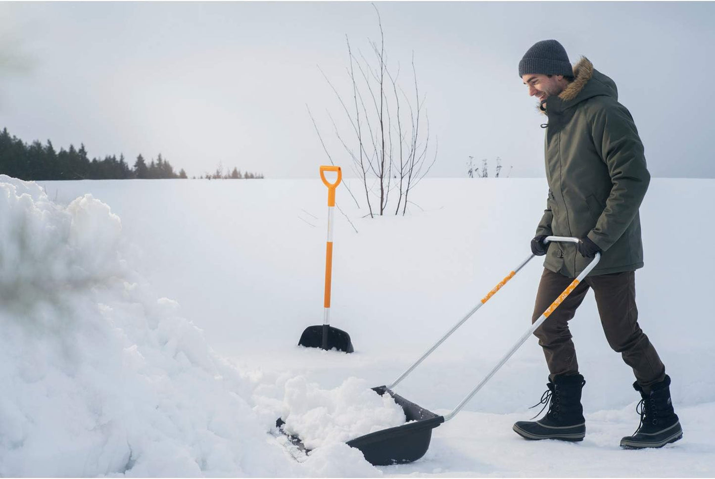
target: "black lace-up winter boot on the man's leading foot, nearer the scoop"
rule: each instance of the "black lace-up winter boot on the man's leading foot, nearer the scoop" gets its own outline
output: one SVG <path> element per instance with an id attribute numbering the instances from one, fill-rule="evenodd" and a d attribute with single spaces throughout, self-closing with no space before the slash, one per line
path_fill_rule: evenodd
<path id="1" fill-rule="evenodd" d="M 582 375 L 556 376 L 546 385 L 548 390 L 541 402 L 548 405 L 546 416 L 536 422 L 518 421 L 513 430 L 526 439 L 583 440 L 586 435 L 586 420 L 581 406 L 581 388 L 586 384 Z M 538 415 L 538 414 L 537 414 Z"/>

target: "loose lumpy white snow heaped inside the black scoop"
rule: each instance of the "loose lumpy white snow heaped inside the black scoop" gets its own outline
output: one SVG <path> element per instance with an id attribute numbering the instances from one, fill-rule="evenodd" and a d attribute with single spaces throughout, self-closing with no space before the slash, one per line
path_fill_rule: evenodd
<path id="1" fill-rule="evenodd" d="M 405 423 L 405 412 L 390 395 L 378 395 L 366 380 L 350 377 L 332 390 L 303 376 L 285 383 L 284 430 L 307 449 L 341 443 Z"/>

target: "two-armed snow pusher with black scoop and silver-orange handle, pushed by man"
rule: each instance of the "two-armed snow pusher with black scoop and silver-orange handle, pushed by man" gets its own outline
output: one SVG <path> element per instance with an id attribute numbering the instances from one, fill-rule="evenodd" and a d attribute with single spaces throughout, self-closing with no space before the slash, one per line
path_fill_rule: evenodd
<path id="1" fill-rule="evenodd" d="M 545 243 L 548 242 L 575 242 L 578 243 L 578 238 L 563 237 L 563 236 L 550 236 L 546 237 Z M 591 263 L 586 266 L 586 269 L 581 272 L 581 275 L 568 285 L 566 290 L 563 290 L 561 295 L 559 295 L 556 300 L 554 300 L 551 305 L 543 312 L 543 315 L 536 320 L 536 322 L 531 325 L 531 327 L 519 338 L 515 345 L 509 350 L 504 357 L 499 360 L 497 365 L 493 367 L 490 372 L 484 377 L 483 380 L 473 389 L 471 392 L 458 404 L 455 408 L 448 414 L 443 416 L 437 415 L 425 408 L 406 400 L 404 397 L 395 394 L 393 392 L 393 387 L 398 385 L 400 381 L 405 379 L 410 372 L 412 372 L 415 367 L 417 367 L 420 362 L 423 362 L 426 357 L 428 357 L 432 352 L 439 347 L 450 335 L 452 335 L 455 330 L 464 324 L 466 320 L 469 319 L 482 305 L 487 302 L 490 297 L 495 295 L 498 290 L 501 290 L 503 285 L 511 280 L 514 275 L 516 275 L 521 268 L 523 268 L 526 263 L 531 261 L 534 255 L 529 256 L 524 260 L 521 265 L 519 265 L 516 270 L 511 271 L 501 282 L 496 285 L 493 290 L 491 290 L 488 295 L 482 298 L 480 303 L 476 305 L 470 312 L 465 315 L 457 324 L 455 324 L 443 337 L 435 342 L 435 344 L 430 347 L 425 354 L 420 357 L 413 365 L 408 367 L 405 372 L 403 372 L 397 379 L 395 379 L 388 386 L 378 386 L 373 387 L 373 390 L 379 395 L 385 394 L 387 392 L 393 397 L 395 403 L 400 405 L 405 411 L 405 418 L 408 423 L 397 426 L 395 428 L 388 428 L 376 431 L 375 433 L 365 434 L 358 438 L 347 441 L 347 445 L 353 448 L 358 448 L 365 455 L 365 460 L 372 465 L 391 465 L 399 463 L 411 463 L 414 460 L 418 460 L 427 452 L 430 446 L 430 439 L 432 438 L 432 430 L 438 425 L 445 423 L 446 421 L 454 418 L 454 416 L 474 397 L 474 395 L 486 384 L 488 380 L 491 379 L 493 375 L 509 360 L 509 358 L 516 352 L 516 350 L 523 345 L 524 342 L 530 337 L 536 329 L 541 326 L 541 324 L 546 321 L 546 318 L 551 315 L 551 313 L 556 310 L 558 305 L 566 299 L 568 295 L 571 294 L 573 289 L 583 281 L 593 267 L 601 260 L 601 254 L 596 253 L 596 257 L 593 258 Z M 282 419 L 276 421 L 276 426 L 282 430 L 282 425 L 285 424 Z M 285 431 L 283 431 L 285 433 Z M 287 434 L 287 433 L 286 433 Z M 296 445 L 302 445 L 300 439 L 295 436 L 290 436 L 289 439 L 292 443 Z M 305 448 L 303 448 L 305 450 Z M 306 451 L 307 452 L 307 451 Z"/>

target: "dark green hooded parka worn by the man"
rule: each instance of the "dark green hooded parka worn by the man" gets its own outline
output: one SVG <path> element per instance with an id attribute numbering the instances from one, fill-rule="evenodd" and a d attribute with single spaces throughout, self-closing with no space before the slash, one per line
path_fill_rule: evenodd
<path id="1" fill-rule="evenodd" d="M 603 250 L 590 275 L 643 267 L 638 207 L 651 175 L 616 84 L 582 57 L 574 80 L 541 109 L 546 127 L 546 210 L 536 234 L 583 237 Z M 591 262 L 573 243 L 551 243 L 544 267 L 576 277 Z"/>

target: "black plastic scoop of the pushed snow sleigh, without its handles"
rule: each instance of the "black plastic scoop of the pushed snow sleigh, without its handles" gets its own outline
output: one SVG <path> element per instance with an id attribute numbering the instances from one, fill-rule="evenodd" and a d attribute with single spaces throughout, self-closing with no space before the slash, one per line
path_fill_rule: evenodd
<path id="1" fill-rule="evenodd" d="M 395 394 L 385 386 L 373 387 L 379 395 L 388 392 L 405 411 L 407 423 L 361 435 L 358 438 L 347 441 L 351 448 L 358 448 L 365 460 L 372 465 L 393 465 L 400 463 L 411 463 L 421 458 L 430 447 L 432 430 L 444 423 L 445 418 L 436 415 L 425 408 L 406 400 L 404 397 Z M 305 449 L 305 445 L 300 442 L 300 438 L 290 435 L 283 430 L 285 423 L 278 418 L 275 425 L 283 434 L 288 436 L 288 440 L 305 453 L 310 450 Z"/>

